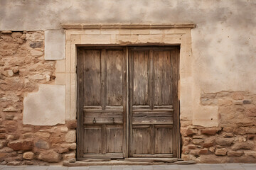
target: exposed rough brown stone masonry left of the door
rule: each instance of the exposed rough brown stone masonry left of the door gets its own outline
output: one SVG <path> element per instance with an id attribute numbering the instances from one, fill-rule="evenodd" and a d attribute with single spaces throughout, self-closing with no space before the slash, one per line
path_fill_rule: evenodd
<path id="1" fill-rule="evenodd" d="M 25 96 L 38 91 L 40 84 L 54 81 L 55 61 L 44 60 L 43 31 L 0 33 L 0 164 L 47 164 L 75 158 L 75 121 L 23 125 Z"/>

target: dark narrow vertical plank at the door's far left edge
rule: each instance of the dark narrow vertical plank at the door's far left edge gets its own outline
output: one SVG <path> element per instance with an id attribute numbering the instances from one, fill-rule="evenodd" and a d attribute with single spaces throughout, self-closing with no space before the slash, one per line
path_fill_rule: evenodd
<path id="1" fill-rule="evenodd" d="M 77 147 L 77 158 L 81 158 L 83 154 L 83 145 L 82 142 L 84 140 L 83 137 L 83 97 L 80 94 L 84 94 L 83 89 L 83 66 L 84 66 L 84 59 L 85 55 L 84 52 L 80 49 L 78 49 L 78 64 L 77 64 L 77 80 L 78 80 L 78 86 L 77 86 L 77 119 L 78 119 L 78 128 L 77 128 L 77 138 L 78 138 L 78 147 Z"/>

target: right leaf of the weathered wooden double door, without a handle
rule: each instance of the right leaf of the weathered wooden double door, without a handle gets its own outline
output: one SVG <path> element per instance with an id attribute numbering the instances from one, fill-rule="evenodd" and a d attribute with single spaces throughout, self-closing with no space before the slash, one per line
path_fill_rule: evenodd
<path id="1" fill-rule="evenodd" d="M 129 50 L 129 157 L 177 157 L 178 47 Z"/>

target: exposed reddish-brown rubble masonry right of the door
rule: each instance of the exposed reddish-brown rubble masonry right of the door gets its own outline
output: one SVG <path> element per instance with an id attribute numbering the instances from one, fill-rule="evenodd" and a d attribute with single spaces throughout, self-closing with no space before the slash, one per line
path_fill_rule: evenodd
<path id="1" fill-rule="evenodd" d="M 219 125 L 181 120 L 182 158 L 202 163 L 256 162 L 256 95 L 245 91 L 201 94 L 201 105 L 218 106 Z"/>

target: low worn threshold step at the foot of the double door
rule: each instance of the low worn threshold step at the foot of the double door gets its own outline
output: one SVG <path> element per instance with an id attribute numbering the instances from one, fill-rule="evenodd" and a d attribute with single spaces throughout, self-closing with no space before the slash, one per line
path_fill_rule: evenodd
<path id="1" fill-rule="evenodd" d="M 141 161 L 139 161 L 139 159 L 141 159 Z M 161 165 L 161 164 L 196 164 L 195 161 L 182 161 L 180 159 L 176 159 L 176 162 L 174 162 L 174 158 L 173 162 L 165 162 L 164 160 L 162 162 L 160 162 L 160 159 L 163 158 L 159 158 L 159 160 L 157 160 L 158 162 L 153 162 L 151 161 L 146 161 L 146 159 L 150 160 L 149 158 L 139 158 L 137 159 L 137 161 L 135 162 L 135 159 L 131 159 L 131 158 L 127 158 L 127 159 L 119 159 L 119 160 L 107 160 L 107 161 L 102 161 L 100 162 L 99 160 L 97 161 L 93 161 L 90 160 L 92 162 L 87 162 L 85 160 L 82 161 L 75 161 L 75 162 L 69 162 L 69 161 L 64 161 L 63 162 L 63 166 L 102 166 L 102 165 Z M 170 159 L 170 158 L 168 158 Z"/>

